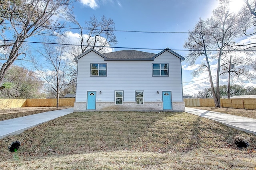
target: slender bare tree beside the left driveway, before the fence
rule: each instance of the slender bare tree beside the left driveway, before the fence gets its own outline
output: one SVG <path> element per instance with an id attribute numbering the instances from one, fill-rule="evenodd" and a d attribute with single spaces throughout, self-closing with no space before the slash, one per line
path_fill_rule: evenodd
<path id="1" fill-rule="evenodd" d="M 58 39 L 58 43 L 63 44 L 63 37 Z M 59 107 L 59 96 L 62 89 L 70 84 L 70 72 L 68 71 L 69 47 L 67 45 L 50 45 L 44 44 L 38 51 L 38 59 L 33 60 L 36 74 L 41 76 L 48 84 L 49 88 L 54 91 Z"/>

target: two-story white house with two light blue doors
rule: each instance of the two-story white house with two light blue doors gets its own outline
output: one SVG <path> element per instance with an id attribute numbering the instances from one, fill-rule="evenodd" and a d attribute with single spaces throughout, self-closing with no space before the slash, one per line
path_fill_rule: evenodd
<path id="1" fill-rule="evenodd" d="M 123 50 L 75 57 L 74 111 L 185 111 L 181 62 L 170 49 L 158 54 Z"/>

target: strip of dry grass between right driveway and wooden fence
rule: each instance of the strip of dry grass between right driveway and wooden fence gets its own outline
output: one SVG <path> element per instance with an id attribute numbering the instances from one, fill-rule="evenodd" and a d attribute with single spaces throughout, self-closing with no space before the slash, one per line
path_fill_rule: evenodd
<path id="1" fill-rule="evenodd" d="M 191 107 L 191 108 L 216 111 L 220 113 L 227 113 L 231 115 L 237 115 L 237 116 L 256 119 L 256 110 L 234 109 L 234 108 L 226 108 L 226 107 Z"/>

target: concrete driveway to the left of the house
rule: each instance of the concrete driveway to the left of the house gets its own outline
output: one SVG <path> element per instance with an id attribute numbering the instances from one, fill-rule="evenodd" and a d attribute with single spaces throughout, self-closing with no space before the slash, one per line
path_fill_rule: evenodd
<path id="1" fill-rule="evenodd" d="M 44 113 L 38 113 L 34 115 L 28 115 L 24 117 L 18 117 L 14 119 L 8 119 L 0 121 L 0 139 L 8 135 L 14 135 L 21 133 L 26 129 L 35 127 L 41 123 L 56 119 L 70 113 L 73 113 L 74 109 L 60 109 L 55 111 L 47 111 Z"/>

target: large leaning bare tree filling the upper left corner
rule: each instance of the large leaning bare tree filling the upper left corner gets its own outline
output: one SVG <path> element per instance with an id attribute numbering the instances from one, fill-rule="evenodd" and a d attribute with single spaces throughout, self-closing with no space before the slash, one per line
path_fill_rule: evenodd
<path id="1" fill-rule="evenodd" d="M 34 35 L 52 35 L 59 24 L 52 17 L 65 10 L 69 3 L 70 0 L 1 0 L 0 47 L 4 53 L 0 59 L 6 62 L 0 69 L 0 84 L 12 63 L 26 56 L 22 50 L 24 41 Z"/>

